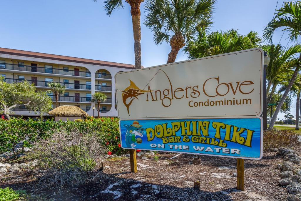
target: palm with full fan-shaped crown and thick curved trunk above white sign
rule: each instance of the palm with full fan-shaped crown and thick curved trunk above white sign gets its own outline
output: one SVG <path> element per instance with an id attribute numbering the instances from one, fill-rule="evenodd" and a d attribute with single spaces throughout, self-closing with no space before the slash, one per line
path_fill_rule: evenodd
<path id="1" fill-rule="evenodd" d="M 149 0 L 144 24 L 154 32 L 156 45 L 169 42 L 167 63 L 175 62 L 179 50 L 197 32 L 208 28 L 216 0 Z"/>

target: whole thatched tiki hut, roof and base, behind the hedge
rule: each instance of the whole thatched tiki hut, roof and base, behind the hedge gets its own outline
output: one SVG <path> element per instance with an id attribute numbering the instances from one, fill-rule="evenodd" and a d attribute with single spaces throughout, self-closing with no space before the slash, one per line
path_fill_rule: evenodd
<path id="1" fill-rule="evenodd" d="M 49 111 L 48 114 L 54 116 L 55 121 L 73 121 L 74 119 L 83 119 L 89 116 L 85 111 L 75 105 L 62 105 Z"/>

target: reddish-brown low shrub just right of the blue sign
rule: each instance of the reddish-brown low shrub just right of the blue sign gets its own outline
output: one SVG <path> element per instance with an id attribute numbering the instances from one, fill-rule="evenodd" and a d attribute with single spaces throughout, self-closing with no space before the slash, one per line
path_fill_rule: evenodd
<path id="1" fill-rule="evenodd" d="M 293 130 L 267 130 L 263 132 L 263 149 L 279 148 L 280 146 L 299 145 L 299 135 Z"/>

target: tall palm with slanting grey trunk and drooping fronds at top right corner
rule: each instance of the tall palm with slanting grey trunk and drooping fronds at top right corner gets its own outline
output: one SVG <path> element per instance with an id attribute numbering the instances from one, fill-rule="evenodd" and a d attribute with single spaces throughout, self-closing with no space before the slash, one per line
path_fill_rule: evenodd
<path id="1" fill-rule="evenodd" d="M 272 37 L 275 32 L 275 30 L 279 27 L 284 27 L 282 31 L 287 31 L 288 36 L 290 40 L 297 41 L 299 36 L 301 36 L 301 2 L 285 2 L 283 7 L 279 10 L 276 10 L 274 18 L 271 20 L 271 22 L 268 23 L 268 25 L 264 29 L 264 39 L 266 41 L 272 42 Z M 301 54 L 300 57 L 301 58 Z M 287 86 L 287 89 L 283 93 L 283 96 L 281 97 L 281 100 L 279 104 L 277 105 L 276 111 L 273 115 L 272 121 L 270 122 L 270 125 L 268 129 L 272 129 L 274 126 L 274 123 L 276 121 L 277 115 L 280 111 L 280 108 L 282 104 L 284 103 L 284 100 L 286 99 L 290 88 L 292 87 L 297 74 L 299 72 L 299 64 L 296 65 L 296 68 L 294 70 L 294 73 L 290 79 L 290 82 Z"/>

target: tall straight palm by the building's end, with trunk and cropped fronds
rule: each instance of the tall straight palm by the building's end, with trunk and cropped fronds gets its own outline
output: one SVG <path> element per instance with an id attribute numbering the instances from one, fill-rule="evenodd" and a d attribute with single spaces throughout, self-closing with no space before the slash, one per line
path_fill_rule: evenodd
<path id="1" fill-rule="evenodd" d="M 97 2 L 97 0 L 93 0 Z M 134 51 L 135 51 L 135 68 L 141 68 L 141 27 L 140 27 L 140 4 L 143 0 L 126 0 L 131 6 L 132 25 L 134 33 Z M 106 0 L 104 1 L 104 10 L 107 11 L 107 15 L 111 15 L 114 10 L 123 8 L 122 0 Z"/>

